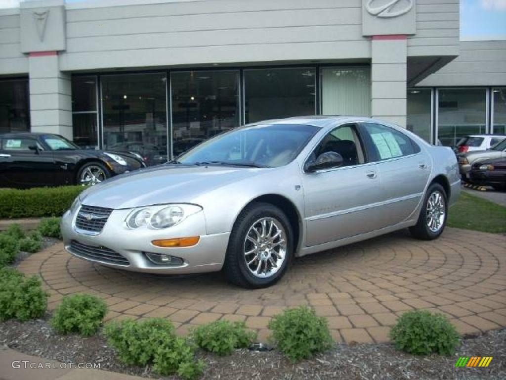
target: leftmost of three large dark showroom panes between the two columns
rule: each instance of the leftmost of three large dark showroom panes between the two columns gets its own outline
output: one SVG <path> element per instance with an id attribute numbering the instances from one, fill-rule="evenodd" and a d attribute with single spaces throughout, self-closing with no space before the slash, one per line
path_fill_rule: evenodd
<path id="1" fill-rule="evenodd" d="M 104 148 L 133 151 L 147 165 L 167 161 L 165 73 L 102 76 Z"/>

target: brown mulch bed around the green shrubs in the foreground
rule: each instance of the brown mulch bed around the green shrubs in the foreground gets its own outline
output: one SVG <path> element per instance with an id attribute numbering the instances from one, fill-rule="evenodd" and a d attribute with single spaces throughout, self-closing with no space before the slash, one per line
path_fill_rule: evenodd
<path id="1" fill-rule="evenodd" d="M 89 338 L 62 336 L 56 334 L 45 319 L 0 323 L 0 344 L 60 362 L 100 363 L 103 370 L 160 377 L 151 372 L 150 366 L 140 368 L 121 364 L 100 332 Z M 457 353 L 450 357 L 413 356 L 398 352 L 393 345 L 387 344 L 340 344 L 312 360 L 297 364 L 291 364 L 276 351 L 237 350 L 228 357 L 199 355 L 207 362 L 202 379 L 504 379 L 506 329 L 462 339 Z M 487 368 L 455 368 L 459 356 L 493 356 L 493 360 Z"/>

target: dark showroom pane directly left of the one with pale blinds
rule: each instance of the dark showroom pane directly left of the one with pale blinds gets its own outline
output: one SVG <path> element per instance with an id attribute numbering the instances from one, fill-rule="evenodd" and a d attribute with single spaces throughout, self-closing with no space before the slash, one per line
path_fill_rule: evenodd
<path id="1" fill-rule="evenodd" d="M 244 70 L 246 123 L 315 114 L 313 68 Z"/>

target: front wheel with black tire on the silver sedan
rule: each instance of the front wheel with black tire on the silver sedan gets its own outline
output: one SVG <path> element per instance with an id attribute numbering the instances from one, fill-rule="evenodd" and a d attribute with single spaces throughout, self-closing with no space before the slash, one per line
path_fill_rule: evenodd
<path id="1" fill-rule="evenodd" d="M 265 288 L 283 277 L 293 256 L 290 222 L 278 207 L 264 202 L 247 206 L 235 221 L 224 272 L 244 288 Z"/>

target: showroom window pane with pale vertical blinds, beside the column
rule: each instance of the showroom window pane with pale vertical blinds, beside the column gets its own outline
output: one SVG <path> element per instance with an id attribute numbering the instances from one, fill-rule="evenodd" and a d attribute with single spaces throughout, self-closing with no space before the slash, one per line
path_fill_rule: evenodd
<path id="1" fill-rule="evenodd" d="M 371 115 L 371 71 L 369 67 L 321 69 L 323 115 Z"/>

